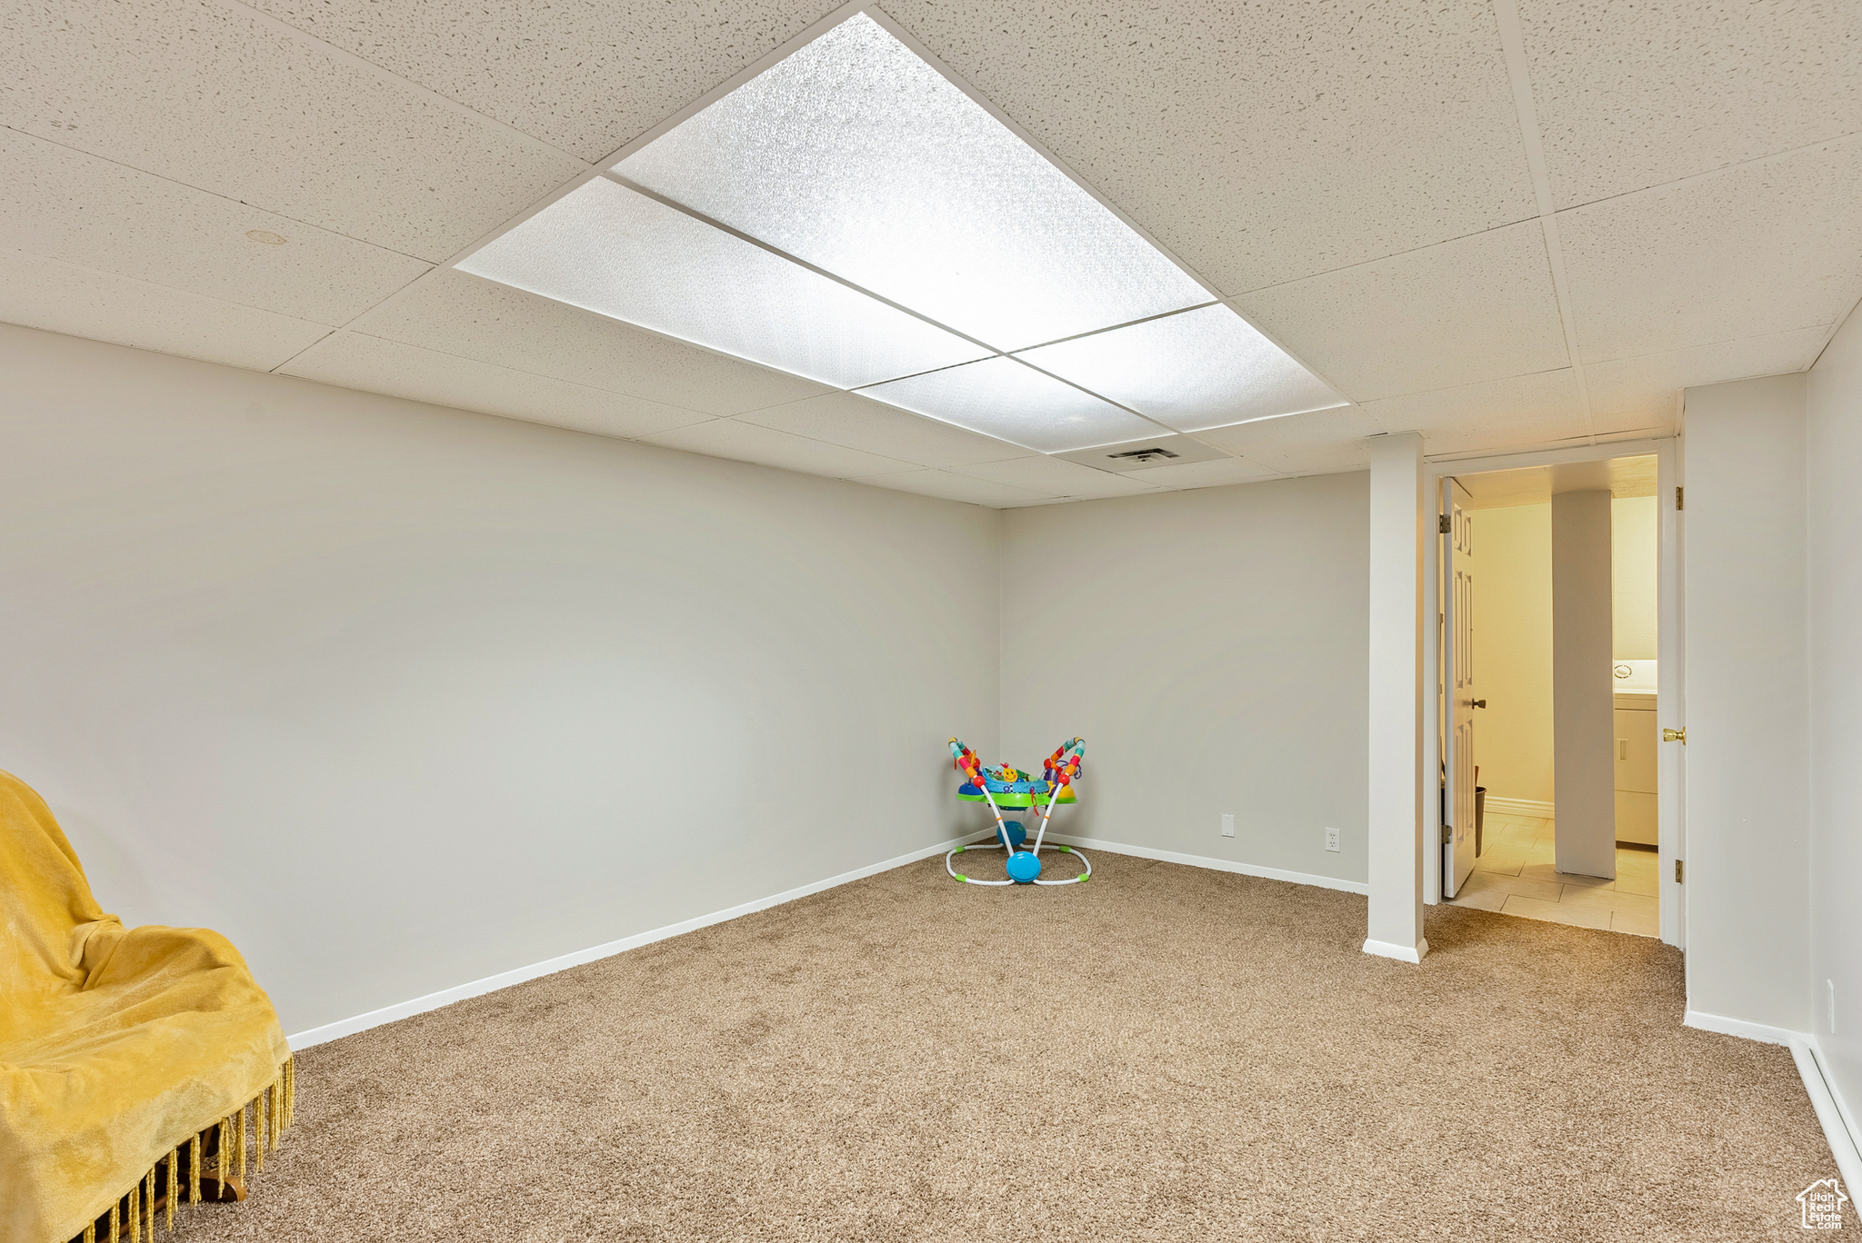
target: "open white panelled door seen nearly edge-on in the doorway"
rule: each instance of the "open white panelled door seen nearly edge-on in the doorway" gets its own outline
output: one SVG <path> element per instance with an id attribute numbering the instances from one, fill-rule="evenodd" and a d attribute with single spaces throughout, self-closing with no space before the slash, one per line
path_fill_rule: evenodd
<path id="1" fill-rule="evenodd" d="M 1449 815 L 1441 826 L 1441 897 L 1454 897 L 1475 871 L 1475 711 L 1486 700 L 1475 692 L 1475 540 L 1467 489 L 1441 482 L 1449 528 L 1441 532 L 1441 564 L 1449 568 L 1443 614 L 1441 670 L 1447 685 L 1449 729 L 1443 759 Z"/>

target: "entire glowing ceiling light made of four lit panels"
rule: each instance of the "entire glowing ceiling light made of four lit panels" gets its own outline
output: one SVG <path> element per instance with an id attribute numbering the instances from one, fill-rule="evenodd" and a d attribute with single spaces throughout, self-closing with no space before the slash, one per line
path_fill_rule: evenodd
<path id="1" fill-rule="evenodd" d="M 1041 452 L 1343 404 L 864 13 L 614 177 L 458 268 Z"/>

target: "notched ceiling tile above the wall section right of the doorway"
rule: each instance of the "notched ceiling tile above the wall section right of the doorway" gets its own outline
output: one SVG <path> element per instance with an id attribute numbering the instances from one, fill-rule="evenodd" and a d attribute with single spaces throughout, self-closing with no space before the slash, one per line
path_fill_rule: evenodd
<path id="1" fill-rule="evenodd" d="M 1674 428 L 1681 389 L 1804 370 L 1828 339 L 1827 327 L 1720 341 L 1711 346 L 1644 354 L 1585 368 L 1598 434 Z"/>

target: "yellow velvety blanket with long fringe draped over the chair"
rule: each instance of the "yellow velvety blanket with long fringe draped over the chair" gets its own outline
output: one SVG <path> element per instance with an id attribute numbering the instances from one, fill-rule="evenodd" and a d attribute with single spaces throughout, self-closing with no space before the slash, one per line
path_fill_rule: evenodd
<path id="1" fill-rule="evenodd" d="M 158 1198 L 169 1219 L 199 1198 L 203 1156 L 209 1178 L 244 1174 L 248 1129 L 261 1159 L 276 1146 L 290 1049 L 244 958 L 218 932 L 106 916 L 6 772 L 0 917 L 0 1243 L 153 1236 Z"/>

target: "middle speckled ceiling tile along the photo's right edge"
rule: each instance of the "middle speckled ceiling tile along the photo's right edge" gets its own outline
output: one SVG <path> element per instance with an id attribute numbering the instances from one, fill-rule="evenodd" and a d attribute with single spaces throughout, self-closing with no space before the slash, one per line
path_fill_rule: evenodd
<path id="1" fill-rule="evenodd" d="M 1862 296 L 1862 143 L 1558 214 L 1586 365 L 1834 324 Z"/>

